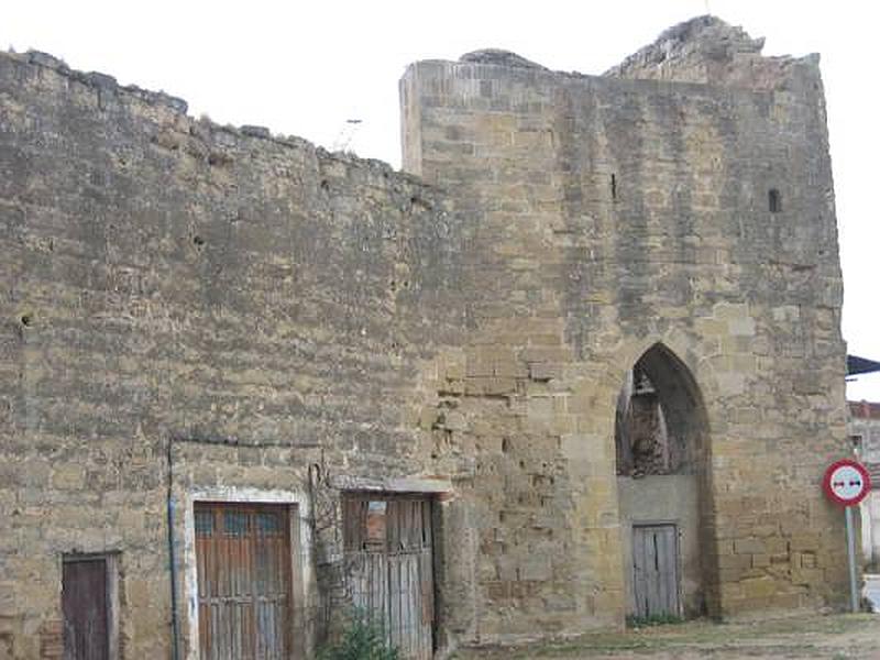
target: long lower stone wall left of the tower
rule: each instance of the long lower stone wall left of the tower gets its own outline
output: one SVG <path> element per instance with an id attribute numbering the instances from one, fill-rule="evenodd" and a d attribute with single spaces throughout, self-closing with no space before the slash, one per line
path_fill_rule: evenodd
<path id="1" fill-rule="evenodd" d="M 420 365 L 462 334 L 469 230 L 384 164 L 47 56 L 0 90 L 0 634 L 58 657 L 63 554 L 118 551 L 124 657 L 166 657 L 169 458 L 184 639 L 191 493 L 438 474 Z"/>

